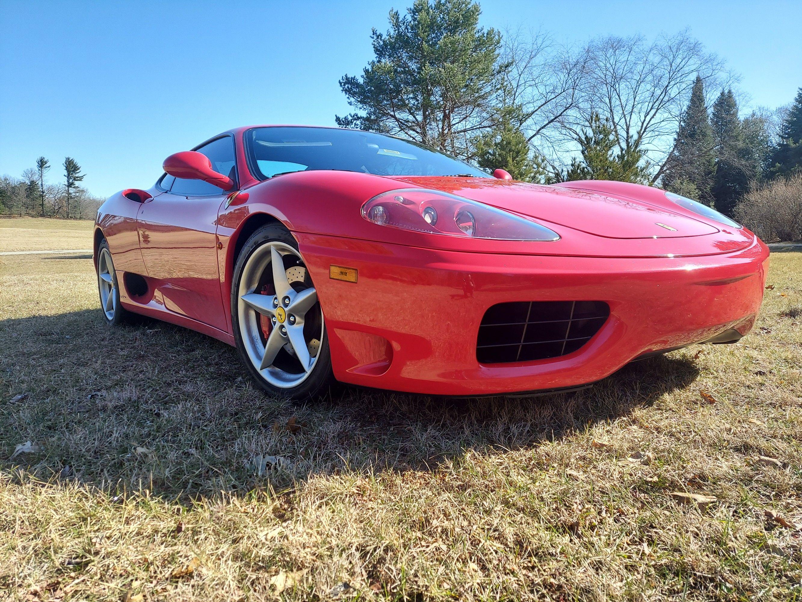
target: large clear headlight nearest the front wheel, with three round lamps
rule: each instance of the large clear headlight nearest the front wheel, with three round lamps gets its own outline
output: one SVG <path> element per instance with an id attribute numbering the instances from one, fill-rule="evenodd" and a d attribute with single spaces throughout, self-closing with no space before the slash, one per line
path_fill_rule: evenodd
<path id="1" fill-rule="evenodd" d="M 363 205 L 362 217 L 379 226 L 463 238 L 560 239 L 559 234 L 529 218 L 439 190 L 403 189 L 379 194 Z"/>

